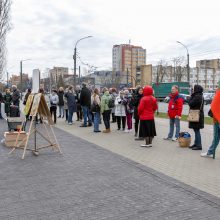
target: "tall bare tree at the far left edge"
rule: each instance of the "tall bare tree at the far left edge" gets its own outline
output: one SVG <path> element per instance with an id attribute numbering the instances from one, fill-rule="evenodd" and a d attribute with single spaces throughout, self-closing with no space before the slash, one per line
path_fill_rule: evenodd
<path id="1" fill-rule="evenodd" d="M 0 0 L 0 79 L 6 66 L 6 34 L 10 30 L 11 0 Z"/>

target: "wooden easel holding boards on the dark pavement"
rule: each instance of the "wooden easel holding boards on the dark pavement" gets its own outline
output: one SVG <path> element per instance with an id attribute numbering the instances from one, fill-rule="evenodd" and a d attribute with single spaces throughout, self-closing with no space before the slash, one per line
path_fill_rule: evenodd
<path id="1" fill-rule="evenodd" d="M 23 139 L 20 143 L 18 143 L 20 136 L 20 132 L 19 132 L 16 138 L 15 147 L 9 152 L 9 154 L 14 152 L 16 149 L 23 149 L 22 159 L 24 159 L 27 150 L 32 151 L 34 155 L 38 156 L 39 150 L 48 147 L 52 147 L 53 150 L 57 150 L 60 153 L 62 153 L 52 127 L 53 121 L 44 96 L 41 93 L 29 95 L 24 112 L 26 115 L 32 116 L 27 137 Z M 43 120 L 43 125 L 46 131 L 45 132 L 46 135 L 43 132 L 39 131 L 39 129 L 37 128 L 36 125 L 37 114 L 40 115 L 40 118 L 47 119 L 48 122 L 47 124 Z M 25 123 L 25 121 L 23 123 Z M 44 146 L 37 146 L 37 138 L 36 138 L 37 134 L 39 134 L 44 140 L 46 140 L 48 144 Z M 28 148 L 28 143 L 32 135 L 34 135 L 34 149 Z M 24 147 L 21 146 L 23 143 L 25 143 Z"/>

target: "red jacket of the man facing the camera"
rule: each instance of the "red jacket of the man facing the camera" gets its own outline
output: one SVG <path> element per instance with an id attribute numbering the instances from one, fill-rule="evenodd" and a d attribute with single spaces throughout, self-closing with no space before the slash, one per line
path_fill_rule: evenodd
<path id="1" fill-rule="evenodd" d="M 175 118 L 176 116 L 181 117 L 182 115 L 183 99 L 178 95 L 179 93 L 170 95 L 170 101 L 168 105 L 168 115 L 171 119 Z"/>

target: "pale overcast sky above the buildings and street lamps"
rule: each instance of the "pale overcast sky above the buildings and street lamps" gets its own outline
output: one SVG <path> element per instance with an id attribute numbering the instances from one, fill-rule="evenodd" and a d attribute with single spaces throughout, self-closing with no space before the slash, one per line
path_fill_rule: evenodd
<path id="1" fill-rule="evenodd" d="M 194 3 L 193 3 L 194 2 Z M 75 42 L 84 63 L 99 70 L 112 66 L 112 46 L 128 43 L 147 50 L 147 63 L 186 56 L 220 57 L 218 0 L 13 0 L 8 34 L 8 71 L 23 72 L 66 66 L 73 68 Z M 77 66 L 83 66 L 77 61 Z"/>

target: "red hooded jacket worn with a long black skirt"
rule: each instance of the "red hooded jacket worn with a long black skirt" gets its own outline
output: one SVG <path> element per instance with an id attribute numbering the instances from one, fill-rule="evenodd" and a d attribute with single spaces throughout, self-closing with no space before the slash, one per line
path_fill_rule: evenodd
<path id="1" fill-rule="evenodd" d="M 152 96 L 153 89 L 151 86 L 144 87 L 144 96 L 138 106 L 138 115 L 140 120 L 153 120 L 154 112 L 157 110 L 157 100 Z"/>

